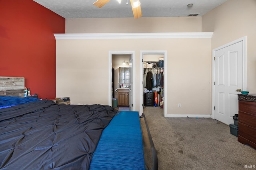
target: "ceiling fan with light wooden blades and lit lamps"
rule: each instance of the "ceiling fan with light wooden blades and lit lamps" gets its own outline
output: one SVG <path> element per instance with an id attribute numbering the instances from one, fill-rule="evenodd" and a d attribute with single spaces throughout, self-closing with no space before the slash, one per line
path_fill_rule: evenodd
<path id="1" fill-rule="evenodd" d="M 97 6 L 98 8 L 101 8 L 106 3 L 108 3 L 110 0 L 97 0 L 94 2 L 94 6 Z M 141 8 L 140 8 L 140 0 L 130 0 L 131 6 L 132 6 L 132 12 L 135 19 L 140 18 L 142 16 Z M 121 3 L 121 0 L 118 0 L 119 3 Z M 128 4 L 128 3 L 126 3 Z"/>

